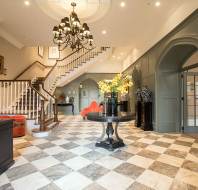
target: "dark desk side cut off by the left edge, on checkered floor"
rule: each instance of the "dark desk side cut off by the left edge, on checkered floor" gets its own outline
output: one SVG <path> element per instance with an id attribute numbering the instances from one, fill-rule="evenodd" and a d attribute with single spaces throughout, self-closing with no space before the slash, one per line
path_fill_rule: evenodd
<path id="1" fill-rule="evenodd" d="M 13 163 L 13 120 L 0 120 L 0 174 Z"/>

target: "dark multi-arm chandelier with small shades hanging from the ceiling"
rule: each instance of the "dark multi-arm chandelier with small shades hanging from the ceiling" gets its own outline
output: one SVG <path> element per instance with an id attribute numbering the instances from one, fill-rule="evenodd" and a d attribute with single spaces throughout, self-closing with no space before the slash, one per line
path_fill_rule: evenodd
<path id="1" fill-rule="evenodd" d="M 70 47 L 73 50 L 85 48 L 90 50 L 93 48 L 93 35 L 90 34 L 87 23 L 81 25 L 78 15 L 74 9 L 76 3 L 72 2 L 73 11 L 69 17 L 61 19 L 59 26 L 54 26 L 54 43 L 58 45 L 59 51 Z"/>

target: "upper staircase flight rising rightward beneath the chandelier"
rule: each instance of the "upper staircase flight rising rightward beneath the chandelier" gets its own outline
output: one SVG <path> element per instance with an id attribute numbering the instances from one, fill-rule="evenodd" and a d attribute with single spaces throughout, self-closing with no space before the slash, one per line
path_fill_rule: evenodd
<path id="1" fill-rule="evenodd" d="M 63 86 L 71 82 L 85 72 L 85 68 L 97 63 L 100 56 L 108 56 L 111 48 L 100 47 L 91 50 L 81 49 L 74 52 L 62 60 L 57 60 L 56 64 L 48 74 L 44 86 L 53 94 L 57 86 Z"/>

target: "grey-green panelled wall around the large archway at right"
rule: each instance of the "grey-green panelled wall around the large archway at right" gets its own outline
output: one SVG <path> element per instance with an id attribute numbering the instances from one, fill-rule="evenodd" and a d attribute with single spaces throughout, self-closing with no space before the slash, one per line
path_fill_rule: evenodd
<path id="1" fill-rule="evenodd" d="M 162 61 L 163 56 L 165 56 L 166 51 L 169 48 L 180 45 L 180 44 L 197 44 L 198 40 L 198 11 L 195 11 L 189 18 L 187 18 L 183 23 L 181 23 L 176 29 L 174 29 L 171 33 L 169 33 L 165 38 L 163 38 L 160 42 L 158 42 L 154 47 L 152 47 L 148 52 L 146 52 L 141 58 L 139 58 L 135 63 L 133 63 L 129 68 L 127 68 L 124 73 L 132 74 L 133 78 L 135 78 L 134 86 L 130 89 L 130 98 L 131 98 L 131 108 L 135 110 L 135 91 L 138 87 L 148 86 L 153 92 L 153 125 L 156 131 L 160 132 L 169 132 L 169 131 L 178 131 L 179 129 L 174 129 L 175 126 L 173 123 L 163 123 L 163 118 L 169 120 L 171 114 L 168 113 L 169 108 L 167 108 L 167 104 L 170 103 L 167 100 L 167 104 L 165 101 L 162 101 L 162 95 L 165 97 L 167 95 L 167 91 L 173 91 L 174 89 L 166 89 L 166 92 L 162 93 L 162 90 L 159 84 L 167 84 L 168 81 L 165 78 L 160 78 L 163 74 L 159 73 L 159 65 Z M 148 39 L 149 40 L 149 39 Z M 188 50 L 187 50 L 188 51 Z M 169 63 L 172 65 L 179 64 L 179 57 L 182 56 L 182 51 L 178 51 L 178 53 L 173 53 L 171 59 L 169 59 Z M 185 52 L 185 49 L 184 49 Z M 191 56 L 192 52 L 189 51 L 189 56 Z M 181 61 L 181 60 L 180 60 Z M 182 60 L 183 62 L 185 59 Z M 183 63 L 182 63 L 183 64 Z M 166 63 L 163 64 L 166 67 Z M 170 67 L 169 67 L 170 68 Z M 169 72 L 168 70 L 166 72 Z M 178 71 L 177 71 L 178 74 Z M 162 80 L 162 81 L 160 81 Z M 171 80 L 171 76 L 169 76 L 168 80 Z M 162 83 L 161 83 L 162 82 Z M 175 82 L 175 79 L 172 80 Z M 176 85 L 176 84 L 175 84 Z M 173 86 L 172 88 L 174 88 Z M 168 94 L 169 96 L 170 94 Z M 173 98 L 173 97 L 172 97 Z M 179 101 L 174 100 L 174 101 Z M 164 108 L 164 111 L 162 110 Z M 170 115 L 170 117 L 168 117 Z M 175 115 L 175 117 L 178 117 Z M 160 120 L 159 120 L 160 118 Z M 171 120 L 174 120 L 171 118 Z M 166 121 L 163 121 L 166 122 Z M 179 124 L 178 124 L 179 125 Z"/>

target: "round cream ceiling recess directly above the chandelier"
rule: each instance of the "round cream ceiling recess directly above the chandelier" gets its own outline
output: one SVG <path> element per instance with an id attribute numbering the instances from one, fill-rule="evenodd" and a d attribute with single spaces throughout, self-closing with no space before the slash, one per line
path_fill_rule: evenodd
<path id="1" fill-rule="evenodd" d="M 89 23 L 104 17 L 111 6 L 111 0 L 36 0 L 41 10 L 57 21 L 70 15 L 72 2 L 77 4 L 75 12 L 80 20 Z"/>

